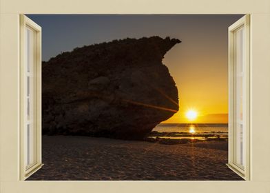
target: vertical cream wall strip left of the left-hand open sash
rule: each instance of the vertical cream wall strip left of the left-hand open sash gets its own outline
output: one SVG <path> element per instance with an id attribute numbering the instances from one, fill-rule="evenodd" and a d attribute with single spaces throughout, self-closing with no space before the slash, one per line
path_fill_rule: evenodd
<path id="1" fill-rule="evenodd" d="M 0 16 L 0 180 L 19 179 L 19 15 Z"/>

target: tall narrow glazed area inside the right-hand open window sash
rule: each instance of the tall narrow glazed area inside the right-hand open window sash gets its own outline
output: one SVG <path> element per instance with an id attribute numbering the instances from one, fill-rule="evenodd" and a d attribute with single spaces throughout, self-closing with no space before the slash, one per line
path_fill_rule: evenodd
<path id="1" fill-rule="evenodd" d="M 244 124 L 244 65 L 245 32 L 239 28 L 233 34 L 233 152 L 234 163 L 245 169 L 245 124 Z"/>

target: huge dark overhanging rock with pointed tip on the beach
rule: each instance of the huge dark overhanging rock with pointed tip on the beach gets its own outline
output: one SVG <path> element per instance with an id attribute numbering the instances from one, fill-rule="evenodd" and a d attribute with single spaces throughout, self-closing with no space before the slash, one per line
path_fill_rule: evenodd
<path id="1" fill-rule="evenodd" d="M 162 63 L 176 43 L 114 40 L 43 62 L 43 134 L 143 139 L 178 111 L 178 90 Z"/>

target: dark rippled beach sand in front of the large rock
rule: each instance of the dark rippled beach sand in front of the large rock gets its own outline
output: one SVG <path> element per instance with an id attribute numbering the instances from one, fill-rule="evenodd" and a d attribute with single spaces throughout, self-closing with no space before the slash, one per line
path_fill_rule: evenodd
<path id="1" fill-rule="evenodd" d="M 238 181 L 227 141 L 163 145 L 88 136 L 43 136 L 43 167 L 28 180 Z"/>

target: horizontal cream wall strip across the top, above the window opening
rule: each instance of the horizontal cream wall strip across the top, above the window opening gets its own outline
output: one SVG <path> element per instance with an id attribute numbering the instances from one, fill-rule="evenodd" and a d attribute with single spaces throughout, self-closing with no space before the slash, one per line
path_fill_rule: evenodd
<path id="1" fill-rule="evenodd" d="M 1 0 L 5 13 L 236 14 L 269 13 L 269 0 Z"/>

